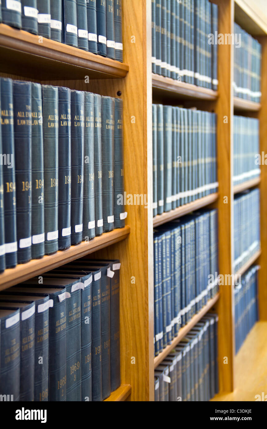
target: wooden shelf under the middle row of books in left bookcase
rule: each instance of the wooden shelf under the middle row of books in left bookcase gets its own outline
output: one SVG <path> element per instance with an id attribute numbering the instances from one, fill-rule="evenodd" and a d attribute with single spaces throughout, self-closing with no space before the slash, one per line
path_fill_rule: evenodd
<path id="1" fill-rule="evenodd" d="M 0 274 L 0 290 L 124 240 L 129 236 L 129 233 L 130 227 L 127 225 L 122 229 L 104 233 L 90 242 L 82 242 L 53 255 L 44 256 L 42 259 L 34 259 L 26 264 L 19 264 L 15 268 L 6 269 Z"/>

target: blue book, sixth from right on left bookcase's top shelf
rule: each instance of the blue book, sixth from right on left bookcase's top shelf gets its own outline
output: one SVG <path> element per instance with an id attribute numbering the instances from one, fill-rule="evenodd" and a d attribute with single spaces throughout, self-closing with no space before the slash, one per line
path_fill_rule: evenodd
<path id="1" fill-rule="evenodd" d="M 76 0 L 63 0 L 63 41 L 66 45 L 78 47 Z"/>

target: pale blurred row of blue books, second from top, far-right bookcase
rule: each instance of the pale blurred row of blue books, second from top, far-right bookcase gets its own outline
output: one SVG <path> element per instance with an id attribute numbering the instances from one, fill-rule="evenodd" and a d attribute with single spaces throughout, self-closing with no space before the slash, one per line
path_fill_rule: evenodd
<path id="1" fill-rule="evenodd" d="M 259 150 L 258 119 L 234 116 L 234 185 L 260 175 Z"/>

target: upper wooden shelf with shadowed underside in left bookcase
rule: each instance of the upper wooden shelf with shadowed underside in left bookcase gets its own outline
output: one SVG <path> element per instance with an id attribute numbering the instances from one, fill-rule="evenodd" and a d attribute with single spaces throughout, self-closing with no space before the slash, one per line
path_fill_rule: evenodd
<path id="1" fill-rule="evenodd" d="M 40 37 L 0 24 L 0 72 L 17 73 L 38 81 L 84 81 L 85 76 L 123 78 L 129 71 L 127 64 Z"/>

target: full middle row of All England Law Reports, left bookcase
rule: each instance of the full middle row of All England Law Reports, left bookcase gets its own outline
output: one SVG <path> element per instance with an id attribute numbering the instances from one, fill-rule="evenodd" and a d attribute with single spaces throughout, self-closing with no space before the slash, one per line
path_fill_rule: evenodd
<path id="1" fill-rule="evenodd" d="M 124 227 L 123 102 L 0 79 L 0 270 Z"/>

